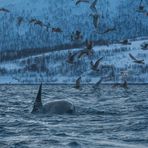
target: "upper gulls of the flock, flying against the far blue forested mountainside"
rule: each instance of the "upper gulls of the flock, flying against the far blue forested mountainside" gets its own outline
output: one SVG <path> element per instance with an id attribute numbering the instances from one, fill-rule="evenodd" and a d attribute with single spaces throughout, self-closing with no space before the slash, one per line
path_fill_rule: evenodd
<path id="1" fill-rule="evenodd" d="M 90 0 L 76 0 L 75 5 L 78 6 L 81 3 L 86 3 L 89 4 L 89 8 L 91 9 L 92 13 L 90 14 L 90 16 L 92 17 L 92 21 L 93 21 L 93 26 L 95 28 L 95 32 L 97 32 L 98 34 L 106 34 L 109 32 L 113 32 L 116 31 L 116 27 L 108 27 L 106 28 L 103 32 L 99 32 L 99 19 L 101 17 L 101 15 L 98 13 L 96 5 L 97 5 L 98 0 L 94 0 L 93 2 L 91 2 Z M 143 0 L 140 0 L 140 4 L 138 6 L 138 9 L 136 10 L 138 13 L 144 13 L 146 16 L 148 16 L 148 11 L 145 9 L 145 6 L 143 5 Z M 11 11 L 9 9 L 6 8 L 0 8 L 0 12 L 5 12 L 5 13 L 10 13 Z M 25 18 L 22 16 L 18 16 L 17 17 L 17 24 L 20 26 L 23 22 L 25 22 Z M 29 20 L 27 20 L 30 24 L 33 25 L 38 25 L 40 27 L 44 27 L 47 31 L 49 30 L 49 28 L 51 28 L 52 32 L 57 32 L 57 33 L 62 33 L 63 30 L 60 27 L 55 27 L 52 26 L 49 23 L 45 24 L 43 21 L 36 19 L 36 18 L 31 18 Z M 77 41 L 77 40 L 81 40 L 83 39 L 83 36 L 81 34 L 81 32 L 79 30 L 76 30 L 75 32 L 72 32 L 71 34 L 71 40 L 72 41 Z"/>

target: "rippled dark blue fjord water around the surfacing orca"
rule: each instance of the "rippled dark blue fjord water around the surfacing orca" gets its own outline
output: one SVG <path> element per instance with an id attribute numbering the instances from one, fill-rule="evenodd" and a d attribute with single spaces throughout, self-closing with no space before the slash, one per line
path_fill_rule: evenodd
<path id="1" fill-rule="evenodd" d="M 148 86 L 43 85 L 43 104 L 67 100 L 73 115 L 33 115 L 38 85 L 0 86 L 0 148 L 147 148 Z"/>

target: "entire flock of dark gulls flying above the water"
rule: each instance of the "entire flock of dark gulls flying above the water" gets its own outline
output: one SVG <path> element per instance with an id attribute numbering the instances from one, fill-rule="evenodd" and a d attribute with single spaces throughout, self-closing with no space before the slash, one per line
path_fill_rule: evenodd
<path id="1" fill-rule="evenodd" d="M 92 17 L 93 20 L 93 26 L 96 30 L 97 33 L 99 34 L 105 34 L 105 33 L 109 33 L 112 31 L 116 31 L 116 27 L 109 27 L 106 30 L 104 30 L 103 32 L 98 32 L 98 28 L 99 28 L 99 18 L 100 18 L 100 14 L 97 11 L 96 5 L 97 5 L 98 0 L 94 0 L 91 4 L 89 0 L 76 0 L 75 5 L 80 5 L 81 3 L 87 3 L 90 4 L 89 8 L 91 9 L 92 13 L 90 14 L 90 16 Z M 146 11 L 144 5 L 143 5 L 143 0 L 140 0 L 140 4 L 138 9 L 136 10 L 138 13 L 144 13 L 146 16 L 148 16 L 148 12 Z M 0 12 L 5 12 L 5 13 L 10 13 L 10 10 L 6 9 L 6 8 L 0 8 Z M 38 25 L 40 27 L 45 27 L 46 30 L 48 31 L 49 28 L 51 28 L 52 32 L 56 32 L 56 33 L 62 33 L 62 29 L 60 27 L 52 27 L 50 23 L 44 24 L 43 21 L 36 19 L 36 18 L 31 18 L 29 20 L 27 20 L 29 22 L 29 24 L 33 24 L 33 25 Z M 25 19 L 22 16 L 17 17 L 17 24 L 20 26 L 23 22 L 25 22 Z M 75 32 L 72 32 L 71 34 L 71 41 L 79 41 L 83 39 L 83 35 L 81 33 L 81 31 L 76 30 Z M 121 44 L 123 45 L 130 45 L 131 43 L 129 42 L 129 40 L 125 39 L 123 41 L 120 41 Z M 141 48 L 146 49 L 148 48 L 148 44 L 146 43 L 145 45 L 143 45 Z M 71 51 L 68 51 L 68 57 L 67 57 L 67 62 L 69 64 L 74 64 L 75 59 L 78 58 L 82 58 L 83 56 L 90 56 L 94 54 L 94 50 L 93 50 L 93 41 L 91 40 L 86 40 L 85 43 L 85 48 L 72 53 Z M 131 53 L 129 53 L 129 57 L 133 60 L 133 62 L 137 63 L 137 64 L 144 64 L 144 60 L 143 59 L 137 59 L 136 57 L 134 57 Z M 103 57 L 100 57 L 98 60 L 94 61 L 90 61 L 90 66 L 91 69 L 93 71 L 100 71 L 100 62 L 101 60 L 103 60 Z M 125 74 L 123 74 L 125 75 Z M 100 83 L 102 82 L 104 78 L 99 79 L 99 81 L 95 84 L 95 88 L 97 86 L 100 85 Z M 81 76 L 76 80 L 76 84 L 75 84 L 75 88 L 79 89 L 80 88 L 80 81 L 81 81 Z M 113 85 L 113 87 L 116 86 L 120 86 L 123 88 L 127 88 L 127 81 L 126 79 L 124 79 L 123 84 L 115 84 Z"/>

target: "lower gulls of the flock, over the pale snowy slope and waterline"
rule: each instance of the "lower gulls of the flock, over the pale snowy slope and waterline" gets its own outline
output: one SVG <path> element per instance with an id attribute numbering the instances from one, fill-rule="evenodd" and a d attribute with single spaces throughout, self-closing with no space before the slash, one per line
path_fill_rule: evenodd
<path id="1" fill-rule="evenodd" d="M 129 40 L 120 41 L 120 44 L 131 45 Z M 144 42 L 143 44 L 141 44 L 141 49 L 142 50 L 148 50 L 148 42 Z M 93 42 L 92 41 L 86 41 L 86 47 L 83 50 L 77 51 L 73 54 L 71 52 L 69 52 L 67 62 L 69 64 L 74 64 L 74 60 L 75 60 L 76 57 L 79 59 L 82 56 L 90 56 L 90 55 L 93 55 L 94 53 L 95 52 L 93 50 Z M 136 58 L 131 53 L 129 53 L 129 57 L 136 64 L 142 64 L 142 65 L 145 64 L 144 59 Z M 101 68 L 102 68 L 101 67 L 101 61 L 102 60 L 103 60 L 103 57 L 100 57 L 95 62 L 90 61 L 91 70 L 93 70 L 95 72 L 101 71 Z M 121 83 L 121 84 L 115 83 L 112 86 L 113 88 L 116 88 L 116 87 L 122 87 L 122 88 L 125 88 L 125 89 L 128 88 L 128 83 L 127 83 L 128 72 L 127 71 L 121 71 L 121 76 L 122 76 L 122 79 L 123 79 L 123 83 Z M 99 79 L 99 81 L 93 86 L 93 88 L 95 88 L 95 89 L 98 88 L 98 86 L 101 84 L 102 80 L 108 80 L 108 79 L 113 80 L 114 77 L 115 77 L 115 72 L 114 72 L 114 69 L 112 69 L 112 72 L 108 73 L 107 76 L 101 77 Z M 80 89 L 80 81 L 81 81 L 81 76 L 76 80 L 75 88 Z"/>

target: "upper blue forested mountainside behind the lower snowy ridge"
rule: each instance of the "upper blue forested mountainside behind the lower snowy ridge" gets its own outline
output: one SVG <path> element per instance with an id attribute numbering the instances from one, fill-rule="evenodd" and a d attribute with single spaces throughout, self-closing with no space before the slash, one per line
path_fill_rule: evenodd
<path id="1" fill-rule="evenodd" d="M 21 50 L 31 48 L 51 47 L 70 43 L 71 33 L 79 30 L 86 38 L 99 40 L 119 40 L 145 36 L 148 33 L 148 19 L 142 13 L 137 13 L 138 1 L 99 0 L 97 11 L 99 31 L 116 27 L 115 32 L 100 35 L 95 31 L 89 4 L 75 5 L 76 0 L 0 0 L 0 8 L 10 12 L 0 12 L 0 50 Z M 144 1 L 147 9 L 148 5 Z M 18 19 L 22 17 L 21 24 Z M 62 33 L 53 33 L 49 29 L 29 23 L 30 19 L 41 20 L 50 27 L 60 27 Z"/>

